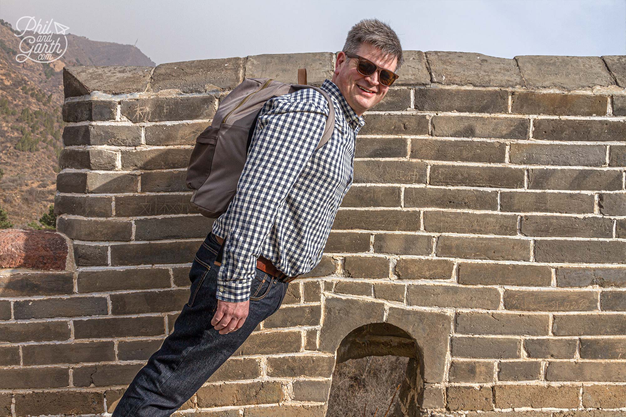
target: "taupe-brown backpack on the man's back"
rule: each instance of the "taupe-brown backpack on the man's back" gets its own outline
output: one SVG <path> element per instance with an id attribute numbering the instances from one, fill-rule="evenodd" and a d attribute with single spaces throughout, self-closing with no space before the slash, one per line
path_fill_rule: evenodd
<path id="1" fill-rule="evenodd" d="M 270 98 L 302 88 L 319 91 L 328 101 L 330 114 L 316 150 L 331 138 L 335 126 L 331 97 L 319 87 L 306 85 L 304 69 L 299 70 L 298 81 L 289 84 L 271 78 L 244 78 L 220 101 L 211 125 L 196 139 L 187 168 L 187 188 L 194 190 L 191 203 L 200 213 L 215 219 L 235 197 L 257 118 Z"/>

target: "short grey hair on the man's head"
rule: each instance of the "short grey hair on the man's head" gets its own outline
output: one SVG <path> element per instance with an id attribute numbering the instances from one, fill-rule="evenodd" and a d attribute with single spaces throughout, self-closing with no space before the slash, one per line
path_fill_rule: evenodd
<path id="1" fill-rule="evenodd" d="M 369 43 L 381 49 L 385 58 L 388 56 L 398 58 L 398 63 L 394 70 L 396 73 L 404 63 L 402 46 L 400 45 L 398 35 L 388 24 L 382 23 L 376 18 L 362 19 L 359 23 L 352 26 L 342 50 L 356 54 L 362 43 Z"/>

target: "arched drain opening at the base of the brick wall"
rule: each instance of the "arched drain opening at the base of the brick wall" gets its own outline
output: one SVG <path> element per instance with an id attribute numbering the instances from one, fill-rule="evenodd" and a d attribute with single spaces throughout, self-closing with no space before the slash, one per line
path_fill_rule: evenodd
<path id="1" fill-rule="evenodd" d="M 418 416 L 419 370 L 417 345 L 407 332 L 388 323 L 358 327 L 337 349 L 326 416 L 383 417 L 387 409 L 387 417 Z"/>

